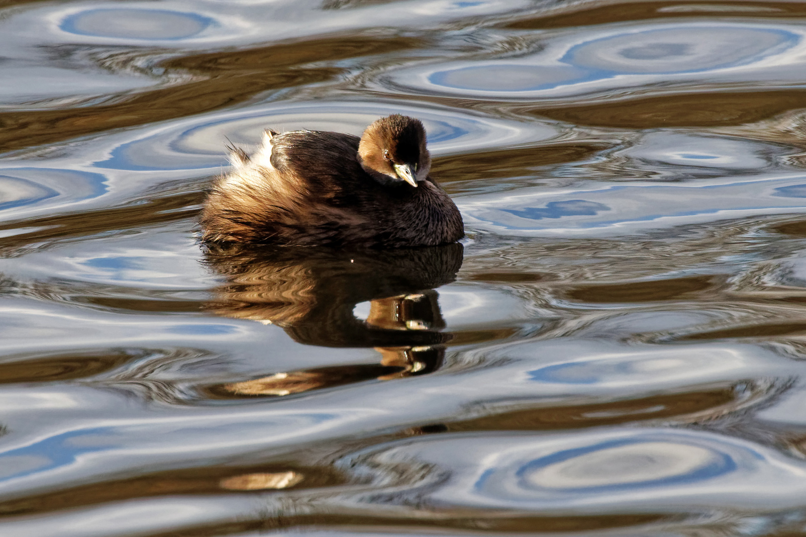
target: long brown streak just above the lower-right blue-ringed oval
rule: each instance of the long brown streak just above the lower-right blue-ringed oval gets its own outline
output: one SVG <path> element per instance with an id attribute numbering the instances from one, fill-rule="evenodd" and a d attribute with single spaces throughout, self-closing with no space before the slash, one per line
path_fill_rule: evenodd
<path id="1" fill-rule="evenodd" d="M 736 400 L 733 386 L 641 399 L 538 407 L 487 413 L 480 418 L 426 425 L 422 432 L 546 431 L 615 425 L 646 419 L 682 418 L 718 411 Z M 415 430 L 416 432 L 416 430 Z"/>

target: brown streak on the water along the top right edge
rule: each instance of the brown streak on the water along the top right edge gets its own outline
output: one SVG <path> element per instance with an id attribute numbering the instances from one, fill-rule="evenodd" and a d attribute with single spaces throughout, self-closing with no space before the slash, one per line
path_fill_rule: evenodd
<path id="1" fill-rule="evenodd" d="M 803 17 L 806 6 L 802 2 L 704 2 L 681 0 L 675 2 L 618 2 L 607 6 L 581 3 L 559 14 L 548 14 L 533 19 L 520 19 L 506 25 L 519 30 L 588 26 L 590 24 L 620 23 L 630 20 L 672 19 L 678 17 Z"/>

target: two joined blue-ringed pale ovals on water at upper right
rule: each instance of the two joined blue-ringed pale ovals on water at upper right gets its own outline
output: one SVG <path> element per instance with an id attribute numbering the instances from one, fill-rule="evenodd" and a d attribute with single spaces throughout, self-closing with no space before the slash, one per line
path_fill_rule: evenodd
<path id="1" fill-rule="evenodd" d="M 802 62 L 803 35 L 799 26 L 761 23 L 585 27 L 541 36 L 538 52 L 517 59 L 458 60 L 388 76 L 404 91 L 521 100 L 739 77 L 797 83 L 790 69 Z"/>

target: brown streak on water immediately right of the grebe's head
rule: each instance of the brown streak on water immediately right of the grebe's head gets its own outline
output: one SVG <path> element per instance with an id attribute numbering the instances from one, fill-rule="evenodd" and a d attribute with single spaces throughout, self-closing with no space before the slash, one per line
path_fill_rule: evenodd
<path id="1" fill-rule="evenodd" d="M 435 158 L 431 171 L 451 191 L 453 181 L 532 176 L 540 166 L 588 159 L 607 148 L 603 143 L 569 143 L 451 155 Z"/>

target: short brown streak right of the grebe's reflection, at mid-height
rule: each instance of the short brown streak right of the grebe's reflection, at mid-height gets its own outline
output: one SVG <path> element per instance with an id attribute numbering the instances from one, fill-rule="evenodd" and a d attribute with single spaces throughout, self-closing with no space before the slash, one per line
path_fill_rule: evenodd
<path id="1" fill-rule="evenodd" d="M 580 302 L 618 303 L 652 302 L 655 300 L 701 299 L 702 292 L 720 283 L 718 276 L 654 279 L 649 282 L 604 283 L 580 285 L 566 291 L 568 298 Z"/>

